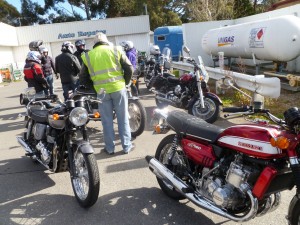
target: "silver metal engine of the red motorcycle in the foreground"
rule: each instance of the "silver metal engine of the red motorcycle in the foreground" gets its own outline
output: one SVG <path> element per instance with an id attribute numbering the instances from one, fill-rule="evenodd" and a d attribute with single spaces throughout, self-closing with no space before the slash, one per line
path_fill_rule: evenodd
<path id="1" fill-rule="evenodd" d="M 206 174 L 205 170 L 208 169 L 204 169 L 203 174 Z M 245 197 L 244 187 L 249 186 L 246 182 L 249 174 L 247 169 L 232 162 L 226 178 L 208 177 L 203 183 L 201 193 L 220 207 L 233 208 Z"/>

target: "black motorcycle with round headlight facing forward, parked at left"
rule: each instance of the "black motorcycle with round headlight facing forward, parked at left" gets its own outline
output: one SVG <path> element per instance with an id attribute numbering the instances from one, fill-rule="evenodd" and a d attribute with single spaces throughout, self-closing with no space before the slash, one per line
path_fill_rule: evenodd
<path id="1" fill-rule="evenodd" d="M 34 88 L 21 94 L 26 105 L 26 130 L 17 136 L 26 156 L 58 173 L 69 171 L 73 191 L 80 206 L 91 207 L 98 199 L 100 177 L 94 149 L 89 142 L 86 124 L 95 117 L 84 108 L 82 96 L 60 102 L 57 95 L 35 96 Z"/>

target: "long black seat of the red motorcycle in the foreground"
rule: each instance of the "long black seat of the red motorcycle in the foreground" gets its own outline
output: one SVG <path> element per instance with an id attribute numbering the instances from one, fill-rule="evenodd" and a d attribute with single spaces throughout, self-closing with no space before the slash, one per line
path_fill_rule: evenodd
<path id="1" fill-rule="evenodd" d="M 167 122 L 177 133 L 199 137 L 211 143 L 217 141 L 219 134 L 224 130 L 179 110 L 169 112 Z"/>

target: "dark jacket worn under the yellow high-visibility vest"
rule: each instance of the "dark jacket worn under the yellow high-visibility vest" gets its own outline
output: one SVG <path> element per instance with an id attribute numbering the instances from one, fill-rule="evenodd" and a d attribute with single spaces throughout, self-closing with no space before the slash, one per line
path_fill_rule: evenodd
<path id="1" fill-rule="evenodd" d="M 108 45 L 108 44 L 99 42 L 99 43 L 95 44 L 93 48 L 95 48 L 99 45 Z M 133 74 L 133 66 L 131 65 L 129 59 L 126 57 L 125 54 L 122 54 L 122 56 L 120 58 L 120 64 L 124 71 L 125 84 L 127 85 L 127 84 L 129 84 L 130 79 Z M 79 83 L 80 83 L 80 85 L 84 85 L 89 89 L 92 89 L 92 90 L 94 89 L 93 81 L 91 80 L 88 68 L 85 64 L 82 64 L 82 68 L 79 73 Z"/>

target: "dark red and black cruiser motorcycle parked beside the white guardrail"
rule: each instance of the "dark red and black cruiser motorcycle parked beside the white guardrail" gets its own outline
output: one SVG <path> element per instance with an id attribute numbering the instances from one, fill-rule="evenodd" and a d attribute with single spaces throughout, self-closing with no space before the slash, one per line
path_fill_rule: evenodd
<path id="1" fill-rule="evenodd" d="M 170 58 L 169 51 L 168 48 L 163 50 L 162 71 L 170 69 L 170 62 L 167 60 Z M 187 59 L 187 62 L 194 66 L 193 72 L 185 73 L 180 78 L 169 72 L 163 72 L 153 77 L 149 86 L 155 88 L 153 92 L 157 107 L 164 108 L 171 105 L 182 108 L 191 115 L 213 123 L 218 119 L 222 101 L 216 94 L 209 91 L 208 74 L 201 58 L 199 60 L 200 65 L 192 58 Z"/>

